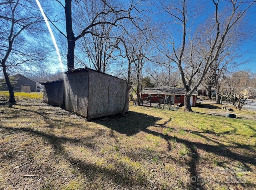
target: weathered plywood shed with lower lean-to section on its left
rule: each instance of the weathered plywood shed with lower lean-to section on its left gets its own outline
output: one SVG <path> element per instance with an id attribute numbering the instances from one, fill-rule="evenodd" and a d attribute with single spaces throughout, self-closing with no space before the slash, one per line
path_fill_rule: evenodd
<path id="1" fill-rule="evenodd" d="M 43 102 L 87 119 L 120 114 L 124 108 L 126 81 L 99 71 L 76 69 L 66 72 L 64 79 L 42 84 Z"/>

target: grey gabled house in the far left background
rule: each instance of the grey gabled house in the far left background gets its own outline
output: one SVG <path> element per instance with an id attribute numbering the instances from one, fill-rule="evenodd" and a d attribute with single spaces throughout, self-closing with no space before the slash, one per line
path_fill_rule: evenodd
<path id="1" fill-rule="evenodd" d="M 12 82 L 12 87 L 14 91 L 18 92 L 36 92 L 36 86 L 38 82 L 23 76 L 22 74 L 15 74 L 10 77 Z M 1 90 L 8 90 L 8 87 L 6 85 L 6 82 L 4 79 L 1 79 Z"/>

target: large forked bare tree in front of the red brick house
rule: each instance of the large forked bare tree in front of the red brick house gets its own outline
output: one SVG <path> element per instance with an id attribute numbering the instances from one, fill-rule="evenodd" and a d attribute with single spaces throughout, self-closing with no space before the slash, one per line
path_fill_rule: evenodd
<path id="1" fill-rule="evenodd" d="M 212 0 L 211 4 L 206 4 L 207 8 L 202 7 L 201 1 L 180 0 L 162 3 L 164 14 L 172 19 L 172 28 L 175 28 L 176 32 L 165 32 L 164 43 L 159 49 L 178 66 L 185 88 L 184 111 L 192 111 L 191 94 L 222 53 L 222 46 L 231 38 L 230 33 L 236 32 L 238 25 L 242 26 L 242 19 L 254 3 Z M 209 6 L 214 8 L 214 14 L 207 12 Z M 225 7 L 226 11 L 222 10 L 222 7 Z M 204 24 L 203 18 L 206 18 Z M 180 43 L 178 39 L 181 40 Z M 202 72 L 198 78 L 200 69 Z"/>

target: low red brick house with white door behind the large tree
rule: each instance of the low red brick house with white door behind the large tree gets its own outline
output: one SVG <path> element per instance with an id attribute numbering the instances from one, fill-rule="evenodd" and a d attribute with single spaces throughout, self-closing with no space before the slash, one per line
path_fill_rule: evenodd
<path id="1" fill-rule="evenodd" d="M 193 92 L 190 98 L 190 105 L 196 106 L 198 92 Z M 161 104 L 182 104 L 184 105 L 184 88 L 145 88 L 142 90 L 143 101 L 154 101 Z"/>

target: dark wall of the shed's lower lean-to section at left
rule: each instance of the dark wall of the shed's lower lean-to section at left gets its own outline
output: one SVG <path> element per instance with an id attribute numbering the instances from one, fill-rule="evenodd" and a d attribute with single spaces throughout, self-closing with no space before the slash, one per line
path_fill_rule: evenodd
<path id="1" fill-rule="evenodd" d="M 44 83 L 43 102 L 56 106 L 64 106 L 64 101 L 64 81 Z"/>

